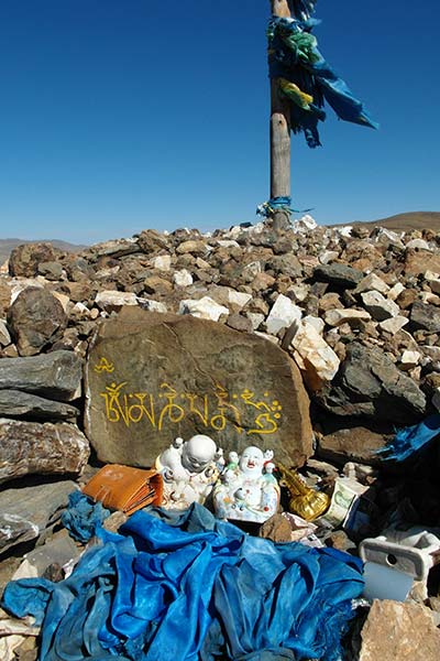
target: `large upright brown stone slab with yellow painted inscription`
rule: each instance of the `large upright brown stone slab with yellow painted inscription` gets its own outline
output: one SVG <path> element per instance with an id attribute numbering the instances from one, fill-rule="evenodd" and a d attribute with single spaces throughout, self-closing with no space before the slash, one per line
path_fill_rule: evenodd
<path id="1" fill-rule="evenodd" d="M 86 434 L 102 462 L 151 466 L 176 436 L 223 449 L 312 453 L 309 400 L 288 355 L 193 316 L 125 308 L 105 321 L 86 368 Z"/>

